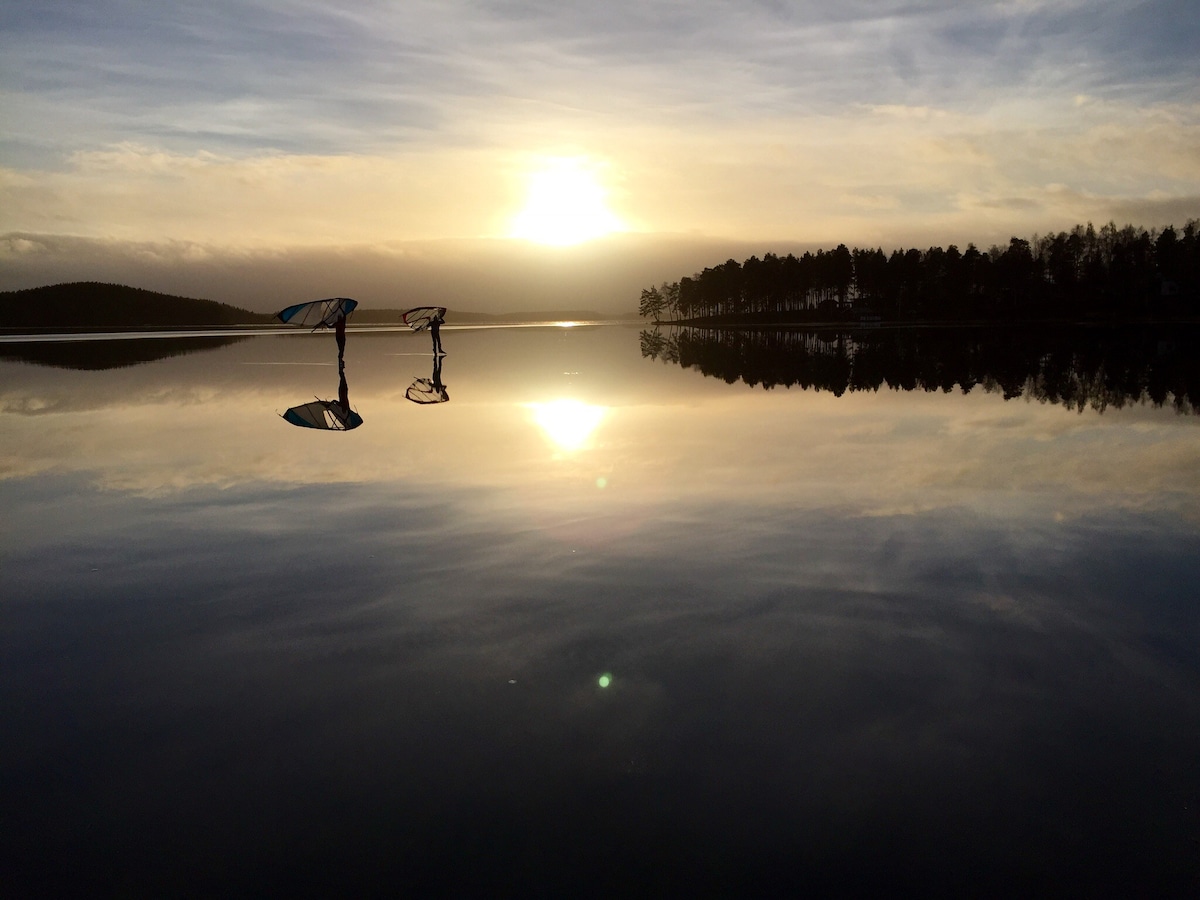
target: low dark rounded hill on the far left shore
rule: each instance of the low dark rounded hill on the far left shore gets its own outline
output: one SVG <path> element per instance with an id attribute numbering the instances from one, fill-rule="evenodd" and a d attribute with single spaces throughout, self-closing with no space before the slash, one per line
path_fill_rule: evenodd
<path id="1" fill-rule="evenodd" d="M 270 316 L 214 300 L 78 281 L 0 293 L 0 328 L 109 329 L 256 325 Z"/>

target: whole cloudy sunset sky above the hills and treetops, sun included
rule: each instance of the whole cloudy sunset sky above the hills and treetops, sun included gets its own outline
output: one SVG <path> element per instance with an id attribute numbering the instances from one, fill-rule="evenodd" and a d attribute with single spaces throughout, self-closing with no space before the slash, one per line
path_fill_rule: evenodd
<path id="1" fill-rule="evenodd" d="M 0 6 L 0 289 L 636 307 L 1200 217 L 1193 0 Z"/>

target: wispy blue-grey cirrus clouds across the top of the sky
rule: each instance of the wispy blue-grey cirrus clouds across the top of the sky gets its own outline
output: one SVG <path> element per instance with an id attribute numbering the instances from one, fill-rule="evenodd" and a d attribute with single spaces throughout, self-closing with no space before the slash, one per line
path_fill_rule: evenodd
<path id="1" fill-rule="evenodd" d="M 492 116 L 518 112 L 694 122 L 979 109 L 1028 90 L 1194 101 L 1194 17 L 1126 7 L 89 2 L 7 13 L 2 48 L 18 110 L 84 125 L 73 140 L 370 152 L 473 131 L 486 142 Z M 31 116 L 8 131 L 46 139 Z"/>

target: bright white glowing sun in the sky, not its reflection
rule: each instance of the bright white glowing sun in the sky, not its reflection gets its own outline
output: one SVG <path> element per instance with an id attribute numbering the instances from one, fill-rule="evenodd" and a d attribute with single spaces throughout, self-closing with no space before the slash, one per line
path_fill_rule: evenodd
<path id="1" fill-rule="evenodd" d="M 625 223 L 608 209 L 596 167 L 586 160 L 556 158 L 529 176 L 524 208 L 512 220 L 509 236 L 568 246 L 623 230 Z"/>

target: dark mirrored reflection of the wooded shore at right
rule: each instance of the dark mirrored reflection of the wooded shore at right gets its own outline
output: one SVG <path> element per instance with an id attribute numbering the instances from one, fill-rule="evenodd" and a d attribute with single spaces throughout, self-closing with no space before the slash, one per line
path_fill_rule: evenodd
<path id="1" fill-rule="evenodd" d="M 977 385 L 1099 412 L 1130 403 L 1200 410 L 1200 329 L 1133 326 L 859 330 L 671 328 L 641 334 L 642 356 L 728 384 L 964 394 Z"/>

